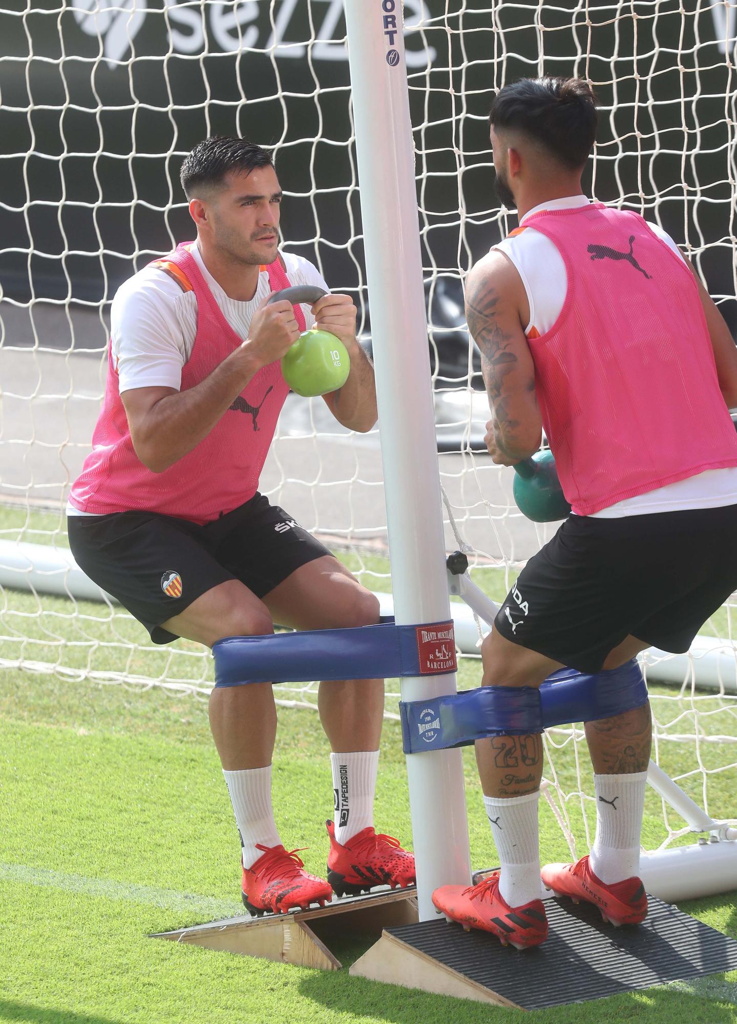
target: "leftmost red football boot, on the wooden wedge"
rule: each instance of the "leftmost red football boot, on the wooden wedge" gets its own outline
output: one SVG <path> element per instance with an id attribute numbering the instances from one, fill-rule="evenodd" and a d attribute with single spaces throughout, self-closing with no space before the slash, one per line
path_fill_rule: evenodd
<path id="1" fill-rule="evenodd" d="M 283 846 L 261 846 L 259 859 L 244 867 L 243 901 L 249 913 L 260 918 L 264 913 L 287 913 L 299 907 L 307 910 L 310 903 L 324 906 L 333 899 L 333 890 L 324 881 L 302 870 L 304 864 L 298 850 Z"/>

